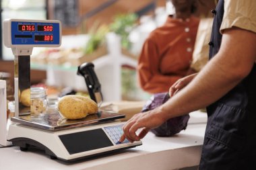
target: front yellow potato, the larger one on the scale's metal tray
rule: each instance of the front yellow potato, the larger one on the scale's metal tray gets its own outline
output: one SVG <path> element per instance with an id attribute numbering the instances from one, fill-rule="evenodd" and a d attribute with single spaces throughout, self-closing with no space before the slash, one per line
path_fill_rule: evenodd
<path id="1" fill-rule="evenodd" d="M 88 114 L 86 102 L 70 95 L 60 99 L 58 108 L 61 115 L 70 120 L 85 118 Z"/>

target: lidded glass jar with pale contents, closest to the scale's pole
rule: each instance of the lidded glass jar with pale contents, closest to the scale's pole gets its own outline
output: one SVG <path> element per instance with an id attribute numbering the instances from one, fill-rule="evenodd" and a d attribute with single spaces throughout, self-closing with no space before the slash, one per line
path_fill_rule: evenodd
<path id="1" fill-rule="evenodd" d="M 31 116 L 38 116 L 45 113 L 47 101 L 46 90 L 43 87 L 30 88 L 30 114 Z"/>

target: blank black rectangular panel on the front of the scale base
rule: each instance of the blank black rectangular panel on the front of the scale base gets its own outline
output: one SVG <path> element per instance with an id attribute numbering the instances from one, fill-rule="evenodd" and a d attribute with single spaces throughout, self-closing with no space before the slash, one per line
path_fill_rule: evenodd
<path id="1" fill-rule="evenodd" d="M 97 148 L 113 146 L 112 142 L 102 129 L 63 134 L 60 135 L 59 138 L 70 155 L 92 151 Z"/>

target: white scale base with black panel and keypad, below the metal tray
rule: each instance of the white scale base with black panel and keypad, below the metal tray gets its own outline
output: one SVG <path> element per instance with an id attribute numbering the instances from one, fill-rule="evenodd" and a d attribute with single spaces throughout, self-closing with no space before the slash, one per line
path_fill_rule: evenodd
<path id="1" fill-rule="evenodd" d="M 21 151 L 30 151 L 30 149 L 32 151 L 32 148 L 36 148 L 44 151 L 51 159 L 71 162 L 141 145 L 141 141 L 131 143 L 125 140 L 121 144 L 118 142 L 122 133 L 116 134 L 114 129 L 116 132 L 121 131 L 123 124 L 123 122 L 113 121 L 57 132 L 39 130 L 22 124 L 11 124 L 7 140 L 15 146 L 20 146 Z"/>

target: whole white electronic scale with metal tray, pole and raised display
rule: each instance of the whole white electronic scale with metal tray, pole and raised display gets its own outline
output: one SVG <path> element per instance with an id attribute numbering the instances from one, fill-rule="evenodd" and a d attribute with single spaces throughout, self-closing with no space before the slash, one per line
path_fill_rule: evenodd
<path id="1" fill-rule="evenodd" d="M 55 20 L 8 19 L 3 22 L 4 44 L 15 55 L 15 118 L 7 140 L 20 146 L 40 148 L 52 159 L 74 161 L 141 145 L 120 143 L 125 115 L 99 110 L 79 120 L 62 118 L 59 112 L 30 116 L 30 108 L 19 103 L 19 91 L 30 88 L 30 55 L 33 47 L 61 44 L 61 23 Z M 24 73 L 25 72 L 25 73 Z M 18 103 L 18 104 L 16 104 Z"/>

